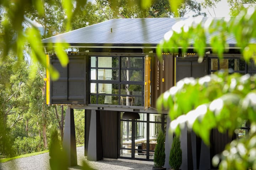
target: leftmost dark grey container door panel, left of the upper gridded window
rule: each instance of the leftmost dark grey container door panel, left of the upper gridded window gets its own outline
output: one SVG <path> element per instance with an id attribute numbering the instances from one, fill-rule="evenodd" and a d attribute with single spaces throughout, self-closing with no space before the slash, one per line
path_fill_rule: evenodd
<path id="1" fill-rule="evenodd" d="M 50 81 L 50 104 L 86 104 L 86 56 L 69 55 L 69 64 L 62 67 L 56 55 L 50 63 L 59 72 L 57 81 Z"/>

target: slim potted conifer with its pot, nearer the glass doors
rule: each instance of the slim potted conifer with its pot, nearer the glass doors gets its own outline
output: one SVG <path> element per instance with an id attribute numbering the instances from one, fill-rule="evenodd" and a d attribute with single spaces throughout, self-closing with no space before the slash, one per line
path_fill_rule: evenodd
<path id="1" fill-rule="evenodd" d="M 152 170 L 166 170 L 166 168 L 163 167 L 165 163 L 165 135 L 162 131 L 159 132 L 156 142 L 154 167 Z"/>

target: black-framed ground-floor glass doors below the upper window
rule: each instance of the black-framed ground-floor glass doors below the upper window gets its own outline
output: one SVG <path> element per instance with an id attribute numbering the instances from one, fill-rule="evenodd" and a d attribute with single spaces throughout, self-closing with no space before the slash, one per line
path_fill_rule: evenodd
<path id="1" fill-rule="evenodd" d="M 125 120 L 120 115 L 119 157 L 153 160 L 156 138 L 166 129 L 167 115 L 139 113 L 140 119 Z"/>

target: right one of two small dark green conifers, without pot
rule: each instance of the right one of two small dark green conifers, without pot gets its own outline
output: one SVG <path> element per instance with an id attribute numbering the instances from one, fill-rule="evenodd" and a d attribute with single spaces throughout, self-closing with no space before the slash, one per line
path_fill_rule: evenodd
<path id="1" fill-rule="evenodd" d="M 180 147 L 180 138 L 174 136 L 170 151 L 169 164 L 172 169 L 179 170 L 182 164 L 182 150 Z"/>

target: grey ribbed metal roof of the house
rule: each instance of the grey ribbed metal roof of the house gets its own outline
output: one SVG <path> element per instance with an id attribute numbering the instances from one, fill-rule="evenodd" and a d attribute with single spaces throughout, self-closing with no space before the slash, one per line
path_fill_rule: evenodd
<path id="1" fill-rule="evenodd" d="M 69 43 L 70 46 L 118 46 L 118 47 L 155 47 L 164 34 L 172 26 L 187 18 L 129 18 L 113 19 L 97 23 L 74 31 L 43 39 L 47 43 Z M 205 22 L 207 18 L 203 18 Z M 209 39 L 209 37 L 207 37 Z M 235 46 L 234 37 L 229 37 L 227 43 Z M 192 42 L 193 44 L 193 42 Z"/>

